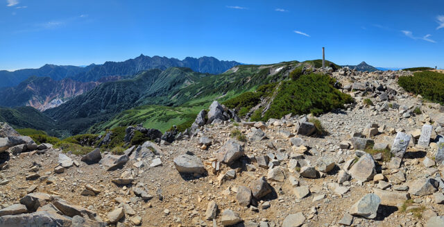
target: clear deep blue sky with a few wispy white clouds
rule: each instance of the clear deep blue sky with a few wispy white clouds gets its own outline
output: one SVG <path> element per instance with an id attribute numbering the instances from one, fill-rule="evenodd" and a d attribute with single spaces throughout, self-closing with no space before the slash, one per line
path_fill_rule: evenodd
<path id="1" fill-rule="evenodd" d="M 214 56 L 444 68 L 444 1 L 0 0 L 0 69 Z"/>

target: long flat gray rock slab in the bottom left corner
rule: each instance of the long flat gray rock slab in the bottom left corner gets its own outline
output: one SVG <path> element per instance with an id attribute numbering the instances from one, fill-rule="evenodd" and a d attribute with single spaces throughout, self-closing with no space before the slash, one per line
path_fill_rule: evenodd
<path id="1" fill-rule="evenodd" d="M 0 226 L 35 227 L 35 226 L 71 226 L 71 219 L 47 211 L 37 211 L 29 214 L 6 215 L 0 217 Z"/>

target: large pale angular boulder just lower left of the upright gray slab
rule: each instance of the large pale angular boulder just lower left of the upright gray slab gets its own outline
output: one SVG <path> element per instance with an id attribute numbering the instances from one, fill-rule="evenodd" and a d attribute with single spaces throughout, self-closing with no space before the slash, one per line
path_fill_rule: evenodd
<path id="1" fill-rule="evenodd" d="M 373 176 L 376 174 L 375 160 L 373 160 L 372 155 L 366 154 L 362 155 L 359 160 L 352 165 L 348 171 L 353 178 L 365 182 L 368 180 L 373 180 Z"/>

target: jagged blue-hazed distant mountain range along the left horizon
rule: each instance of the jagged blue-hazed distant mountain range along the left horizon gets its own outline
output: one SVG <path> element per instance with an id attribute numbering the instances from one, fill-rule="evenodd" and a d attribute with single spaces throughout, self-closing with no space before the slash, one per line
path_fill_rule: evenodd
<path id="1" fill-rule="evenodd" d="M 235 61 L 218 60 L 213 57 L 190 58 L 178 60 L 160 56 L 140 55 L 137 58 L 123 62 L 105 62 L 103 65 L 88 65 L 78 67 L 72 65 L 44 65 L 39 69 L 19 69 L 14 72 L 0 71 L 0 87 L 13 87 L 19 85 L 30 76 L 48 76 L 54 81 L 71 78 L 74 81 L 89 82 L 100 81 L 108 76 L 132 76 L 147 69 L 168 69 L 169 67 L 189 67 L 195 72 L 221 74 L 226 70 L 240 65 Z"/>

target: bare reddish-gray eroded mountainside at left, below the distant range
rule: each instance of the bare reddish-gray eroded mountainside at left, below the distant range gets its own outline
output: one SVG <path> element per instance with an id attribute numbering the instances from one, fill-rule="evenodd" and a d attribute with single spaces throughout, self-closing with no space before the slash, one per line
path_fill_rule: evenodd
<path id="1" fill-rule="evenodd" d="M 60 81 L 50 77 L 31 76 L 17 87 L 0 90 L 0 106 L 32 106 L 44 111 L 55 108 L 65 101 L 83 94 L 99 85 L 97 82 L 78 82 L 70 78 Z"/>

